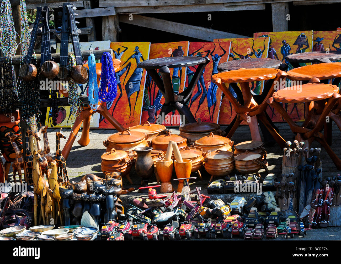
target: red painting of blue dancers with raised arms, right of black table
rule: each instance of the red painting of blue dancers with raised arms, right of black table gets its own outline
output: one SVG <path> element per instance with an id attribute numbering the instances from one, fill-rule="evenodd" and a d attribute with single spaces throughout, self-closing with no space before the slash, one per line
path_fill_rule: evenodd
<path id="1" fill-rule="evenodd" d="M 230 48 L 231 42 L 190 42 L 189 56 L 207 56 L 211 60 L 200 76 L 188 104 L 193 116 L 202 122 L 218 123 L 222 91 L 211 79 L 218 73 L 218 65 L 228 61 Z M 185 87 L 191 82 L 196 68 L 187 67 Z"/>

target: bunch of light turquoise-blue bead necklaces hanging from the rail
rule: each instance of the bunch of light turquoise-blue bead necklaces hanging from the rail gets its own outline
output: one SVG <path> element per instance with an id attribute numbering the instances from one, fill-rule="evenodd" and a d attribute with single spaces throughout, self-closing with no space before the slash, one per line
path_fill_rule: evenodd
<path id="1" fill-rule="evenodd" d="M 93 54 L 90 54 L 88 57 L 88 66 L 89 66 L 89 85 L 88 85 L 89 105 L 93 111 L 96 111 L 98 107 L 99 88 L 98 88 L 98 83 L 97 83 L 95 56 Z"/>

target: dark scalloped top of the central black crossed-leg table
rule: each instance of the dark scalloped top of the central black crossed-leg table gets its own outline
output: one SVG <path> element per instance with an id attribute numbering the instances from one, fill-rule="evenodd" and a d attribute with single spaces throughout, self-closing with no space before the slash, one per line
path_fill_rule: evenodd
<path id="1" fill-rule="evenodd" d="M 151 60 L 145 60 L 138 64 L 138 67 L 144 69 L 160 69 L 163 66 L 168 68 L 189 67 L 205 63 L 205 58 L 196 56 L 185 57 L 163 57 Z"/>

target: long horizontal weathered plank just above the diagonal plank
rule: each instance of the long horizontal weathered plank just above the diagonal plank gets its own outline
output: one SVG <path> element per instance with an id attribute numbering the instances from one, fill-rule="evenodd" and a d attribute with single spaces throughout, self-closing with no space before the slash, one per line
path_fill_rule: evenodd
<path id="1" fill-rule="evenodd" d="M 103 2 L 99 0 L 100 6 Z M 116 7 L 116 14 L 193 13 L 214 11 L 265 10 L 265 4 L 225 6 L 218 4 Z"/>

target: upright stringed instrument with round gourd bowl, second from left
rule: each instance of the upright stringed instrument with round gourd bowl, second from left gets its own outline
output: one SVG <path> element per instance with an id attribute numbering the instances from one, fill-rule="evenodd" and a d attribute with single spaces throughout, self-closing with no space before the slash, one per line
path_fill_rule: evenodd
<path id="1" fill-rule="evenodd" d="M 43 27 L 42 27 L 42 44 L 41 44 L 41 73 L 48 79 L 54 79 L 59 72 L 59 66 L 52 59 L 51 43 L 50 43 L 50 27 L 49 27 L 49 7 L 43 7 Z"/>

